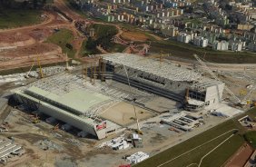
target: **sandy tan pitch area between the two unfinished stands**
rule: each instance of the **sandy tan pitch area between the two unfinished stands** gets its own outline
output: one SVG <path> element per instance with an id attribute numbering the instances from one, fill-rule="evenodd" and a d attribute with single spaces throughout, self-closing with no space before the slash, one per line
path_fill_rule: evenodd
<path id="1" fill-rule="evenodd" d="M 153 113 L 137 106 L 135 106 L 135 111 L 139 120 L 151 117 L 153 115 Z M 135 118 L 133 105 L 131 103 L 117 103 L 110 109 L 104 111 L 104 113 L 102 113 L 100 116 L 120 125 L 126 125 L 135 122 L 133 119 Z"/>

